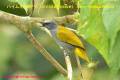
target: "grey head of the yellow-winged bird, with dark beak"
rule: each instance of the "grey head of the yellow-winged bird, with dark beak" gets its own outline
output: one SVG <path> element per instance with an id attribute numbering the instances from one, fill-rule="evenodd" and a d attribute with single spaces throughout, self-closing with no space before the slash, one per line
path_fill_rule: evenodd
<path id="1" fill-rule="evenodd" d="M 43 22 L 43 27 L 46 27 L 48 30 L 55 30 L 58 24 L 53 20 L 46 20 Z"/>

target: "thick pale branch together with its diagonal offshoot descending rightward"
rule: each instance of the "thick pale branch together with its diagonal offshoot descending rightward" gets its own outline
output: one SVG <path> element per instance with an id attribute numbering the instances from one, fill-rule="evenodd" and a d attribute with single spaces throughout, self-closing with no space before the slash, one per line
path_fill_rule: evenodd
<path id="1" fill-rule="evenodd" d="M 73 17 L 67 16 L 70 19 Z M 56 20 L 58 23 L 62 24 L 68 19 L 65 16 L 55 17 L 53 20 Z M 40 22 L 46 20 L 45 18 L 30 18 L 30 17 L 21 17 L 16 16 L 10 13 L 0 11 L 0 22 L 13 24 L 22 32 L 25 33 L 26 37 L 31 41 L 31 43 L 39 50 L 39 52 L 49 61 L 51 64 L 56 67 L 56 69 L 61 72 L 64 76 L 67 76 L 67 71 L 41 46 L 41 44 L 35 39 L 35 37 L 29 31 L 33 28 L 40 28 Z M 58 21 L 59 20 L 59 21 Z M 63 20 L 63 21 L 62 21 Z M 66 20 L 69 22 L 69 20 Z M 72 21 L 72 20 L 71 20 Z"/>

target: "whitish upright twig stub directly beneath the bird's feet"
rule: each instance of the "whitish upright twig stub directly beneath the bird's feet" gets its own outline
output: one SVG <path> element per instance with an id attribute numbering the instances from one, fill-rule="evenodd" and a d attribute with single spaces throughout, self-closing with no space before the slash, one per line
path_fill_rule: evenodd
<path id="1" fill-rule="evenodd" d="M 68 71 L 68 79 L 72 80 L 72 66 L 71 66 L 71 61 L 69 54 L 64 50 L 64 56 L 65 56 L 65 62 L 67 65 L 67 71 Z"/>

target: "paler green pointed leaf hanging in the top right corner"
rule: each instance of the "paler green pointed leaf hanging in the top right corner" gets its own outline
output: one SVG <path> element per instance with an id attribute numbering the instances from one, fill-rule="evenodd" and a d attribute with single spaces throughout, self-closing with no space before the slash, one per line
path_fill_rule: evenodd
<path id="1" fill-rule="evenodd" d="M 104 8 L 103 9 L 103 22 L 108 31 L 108 36 L 110 38 L 110 48 L 113 47 L 115 43 L 115 38 L 117 32 L 120 30 L 120 3 L 110 3 L 108 6 L 113 5 L 115 8 Z"/>

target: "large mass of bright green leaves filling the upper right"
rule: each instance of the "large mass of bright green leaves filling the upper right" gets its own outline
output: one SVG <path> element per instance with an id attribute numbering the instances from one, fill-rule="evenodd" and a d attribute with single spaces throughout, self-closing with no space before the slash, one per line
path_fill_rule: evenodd
<path id="1" fill-rule="evenodd" d="M 90 3 L 89 6 L 101 4 L 98 4 L 96 0 L 92 4 Z M 120 69 L 120 34 L 118 34 L 120 31 L 120 1 L 107 2 L 106 5 L 115 8 L 81 9 L 78 34 L 100 52 L 111 70 L 116 73 Z"/>

